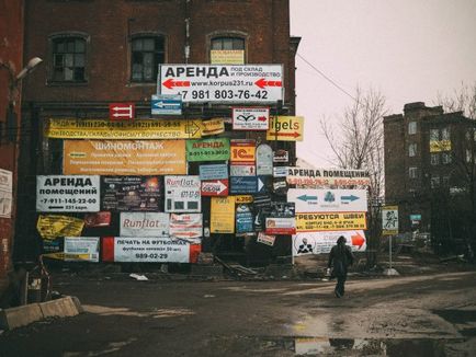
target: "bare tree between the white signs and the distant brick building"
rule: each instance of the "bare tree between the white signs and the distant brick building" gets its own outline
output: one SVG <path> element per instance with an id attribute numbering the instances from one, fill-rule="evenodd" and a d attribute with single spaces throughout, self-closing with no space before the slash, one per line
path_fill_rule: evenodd
<path id="1" fill-rule="evenodd" d="M 378 247 L 381 231 L 381 208 L 384 194 L 384 127 L 387 114 L 385 96 L 373 89 L 356 88 L 352 105 L 344 110 L 337 124 L 326 118 L 320 127 L 328 141 L 332 157 L 331 164 L 342 169 L 366 170 L 370 173 L 369 187 L 369 264 L 375 264 L 372 254 Z"/>

